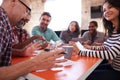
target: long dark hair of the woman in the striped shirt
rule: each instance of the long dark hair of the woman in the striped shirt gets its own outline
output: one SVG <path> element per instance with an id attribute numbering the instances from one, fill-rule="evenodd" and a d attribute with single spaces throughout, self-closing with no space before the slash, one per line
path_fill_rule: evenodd
<path id="1" fill-rule="evenodd" d="M 117 29 L 117 33 L 120 33 L 120 0 L 105 0 L 104 4 L 108 2 L 111 6 L 115 7 L 116 9 L 119 10 L 119 26 L 118 26 L 118 29 Z M 105 28 L 105 33 L 107 34 L 108 33 L 108 36 L 111 36 L 113 30 L 114 30 L 114 27 L 113 27 L 113 23 L 111 21 L 108 21 L 106 20 L 104 17 L 103 17 L 103 25 L 104 25 L 104 28 Z"/>

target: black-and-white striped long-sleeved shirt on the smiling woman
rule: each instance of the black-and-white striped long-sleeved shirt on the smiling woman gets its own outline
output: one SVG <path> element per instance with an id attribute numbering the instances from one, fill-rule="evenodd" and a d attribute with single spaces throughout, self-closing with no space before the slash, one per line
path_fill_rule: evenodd
<path id="1" fill-rule="evenodd" d="M 103 46 L 91 46 L 90 51 L 80 51 L 79 55 L 111 60 L 112 67 L 120 71 L 120 34 L 113 32 Z"/>

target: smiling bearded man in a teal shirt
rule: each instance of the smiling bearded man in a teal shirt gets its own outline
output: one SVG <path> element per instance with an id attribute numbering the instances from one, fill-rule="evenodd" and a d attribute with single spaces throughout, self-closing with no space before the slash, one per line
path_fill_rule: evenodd
<path id="1" fill-rule="evenodd" d="M 41 35 L 44 36 L 44 38 L 47 41 L 53 40 L 53 41 L 61 41 L 60 38 L 57 36 L 57 34 L 48 28 L 48 25 L 51 21 L 51 15 L 49 12 L 43 12 L 40 17 L 40 25 L 35 26 L 32 29 L 32 36 L 34 35 Z"/>

